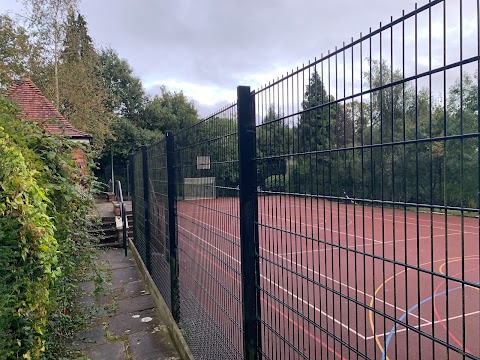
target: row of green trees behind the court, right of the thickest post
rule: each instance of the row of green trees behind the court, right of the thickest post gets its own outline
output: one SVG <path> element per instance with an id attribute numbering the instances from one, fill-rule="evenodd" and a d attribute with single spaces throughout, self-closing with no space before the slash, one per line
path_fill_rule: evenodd
<path id="1" fill-rule="evenodd" d="M 400 71 L 375 60 L 364 74 L 372 89 L 401 79 Z M 428 89 L 406 82 L 372 91 L 362 103 L 345 102 L 337 111 L 322 107 L 322 87 L 314 73 L 303 102 L 312 110 L 294 129 L 293 152 L 306 153 L 289 160 L 287 191 L 478 208 L 478 139 L 458 137 L 478 131 L 477 73 L 463 73 L 451 86 L 446 107 Z M 330 115 L 322 116 L 320 109 L 328 108 Z M 260 136 L 274 134 L 270 129 Z"/>

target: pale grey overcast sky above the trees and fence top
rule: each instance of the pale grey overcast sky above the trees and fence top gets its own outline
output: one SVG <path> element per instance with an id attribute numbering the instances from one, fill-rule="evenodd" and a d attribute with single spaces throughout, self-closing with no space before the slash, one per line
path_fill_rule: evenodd
<path id="1" fill-rule="evenodd" d="M 446 1 L 455 8 L 459 0 Z M 127 59 L 147 91 L 183 90 L 202 116 L 234 101 L 237 85 L 258 88 L 414 7 L 413 0 L 80 2 L 97 46 Z M 2 13 L 20 8 L 0 0 Z"/>

